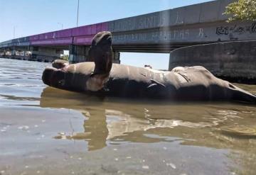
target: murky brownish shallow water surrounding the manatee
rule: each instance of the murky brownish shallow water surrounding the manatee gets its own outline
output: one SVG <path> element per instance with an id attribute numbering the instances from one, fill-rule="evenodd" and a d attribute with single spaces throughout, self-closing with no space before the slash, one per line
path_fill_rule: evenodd
<path id="1" fill-rule="evenodd" d="M 256 174 L 256 106 L 102 99 L 48 65 L 0 59 L 0 174 Z"/>

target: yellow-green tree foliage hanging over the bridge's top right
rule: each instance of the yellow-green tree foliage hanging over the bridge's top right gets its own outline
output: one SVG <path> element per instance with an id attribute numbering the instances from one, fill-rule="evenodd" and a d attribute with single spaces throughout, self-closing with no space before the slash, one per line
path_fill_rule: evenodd
<path id="1" fill-rule="evenodd" d="M 228 21 L 256 21 L 256 0 L 238 0 L 226 7 L 224 14 L 232 17 Z"/>

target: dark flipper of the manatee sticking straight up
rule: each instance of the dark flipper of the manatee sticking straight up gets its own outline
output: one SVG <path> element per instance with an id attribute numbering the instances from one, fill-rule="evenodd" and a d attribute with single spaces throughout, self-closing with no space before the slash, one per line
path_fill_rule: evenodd
<path id="1" fill-rule="evenodd" d="M 90 60 L 95 62 L 95 69 L 92 76 L 95 74 L 109 74 L 112 68 L 112 34 L 104 31 L 97 33 L 92 38 L 90 47 Z"/>

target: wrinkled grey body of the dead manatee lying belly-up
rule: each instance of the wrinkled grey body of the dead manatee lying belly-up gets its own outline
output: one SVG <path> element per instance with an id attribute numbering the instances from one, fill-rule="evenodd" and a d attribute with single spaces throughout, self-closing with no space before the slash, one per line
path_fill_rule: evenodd
<path id="1" fill-rule="evenodd" d="M 111 33 L 100 35 L 107 52 L 111 42 Z M 97 37 L 96 37 L 97 38 Z M 102 47 L 102 45 L 98 45 Z M 97 52 L 106 52 L 106 50 Z M 95 52 L 91 50 L 90 52 Z M 98 53 L 98 55 L 104 53 Z M 111 57 L 109 57 L 111 59 Z M 97 62 L 78 64 L 63 63 L 63 66 L 47 67 L 43 72 L 43 82 L 49 86 L 70 91 L 85 91 L 102 96 L 131 98 L 161 98 L 172 101 L 243 101 L 256 103 L 256 96 L 244 91 L 228 81 L 213 76 L 204 67 L 176 67 L 170 71 L 158 71 L 149 68 L 132 67 L 107 63 L 106 57 Z M 59 61 L 56 61 L 59 62 Z M 55 62 L 55 63 L 56 63 Z M 106 68 L 101 67 L 105 65 Z M 97 65 L 100 64 L 100 65 Z M 106 66 L 107 65 L 107 66 Z M 53 64 L 54 66 L 54 64 Z M 110 68 L 111 67 L 111 68 Z M 97 70 L 97 71 L 95 71 Z M 96 76 L 95 76 L 96 74 Z"/>

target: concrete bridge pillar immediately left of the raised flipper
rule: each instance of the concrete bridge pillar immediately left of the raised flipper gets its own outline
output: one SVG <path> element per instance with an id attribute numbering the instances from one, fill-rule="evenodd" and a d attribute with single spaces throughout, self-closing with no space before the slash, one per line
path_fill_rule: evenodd
<path id="1" fill-rule="evenodd" d="M 69 46 L 69 62 L 87 62 L 89 60 L 90 46 L 87 45 L 70 45 Z"/>

